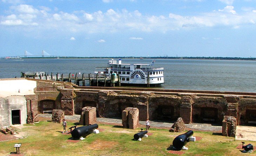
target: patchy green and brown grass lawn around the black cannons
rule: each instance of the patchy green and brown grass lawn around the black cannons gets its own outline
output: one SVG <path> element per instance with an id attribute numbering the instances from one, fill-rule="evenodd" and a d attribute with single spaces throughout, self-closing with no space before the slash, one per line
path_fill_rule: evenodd
<path id="1" fill-rule="evenodd" d="M 74 122 L 74 123 L 72 123 Z M 68 121 L 68 127 L 75 125 L 76 121 Z M 144 127 L 143 127 L 144 128 Z M 40 121 L 35 124 L 25 124 L 17 128 L 17 132 L 25 138 L 20 140 L 0 142 L 0 155 L 8 156 L 15 152 L 15 143 L 22 143 L 20 152 L 25 156 L 164 156 L 171 154 L 170 145 L 173 139 L 183 133 L 171 133 L 168 129 L 150 129 L 149 136 L 142 141 L 134 141 L 133 135 L 140 131 L 123 129 L 121 126 L 99 124 L 99 134 L 89 134 L 85 140 L 70 142 L 71 134 L 62 134 L 60 123 Z M 242 149 L 236 149 L 241 144 L 240 140 L 233 137 L 224 137 L 218 133 L 194 131 L 196 137 L 202 139 L 196 142 L 188 142 L 188 150 L 183 156 L 239 156 L 256 155 L 243 154 Z M 245 141 L 246 144 L 255 145 L 254 141 Z"/>

